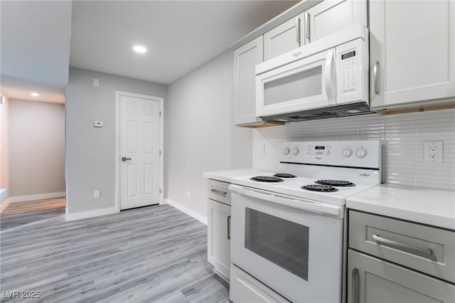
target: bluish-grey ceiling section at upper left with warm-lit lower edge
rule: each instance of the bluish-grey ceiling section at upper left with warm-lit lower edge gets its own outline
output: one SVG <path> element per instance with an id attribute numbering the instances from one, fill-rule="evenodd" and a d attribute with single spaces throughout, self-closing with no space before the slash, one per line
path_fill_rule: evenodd
<path id="1" fill-rule="evenodd" d="M 63 102 L 68 82 L 70 1 L 0 1 L 1 92 L 14 99 Z"/>

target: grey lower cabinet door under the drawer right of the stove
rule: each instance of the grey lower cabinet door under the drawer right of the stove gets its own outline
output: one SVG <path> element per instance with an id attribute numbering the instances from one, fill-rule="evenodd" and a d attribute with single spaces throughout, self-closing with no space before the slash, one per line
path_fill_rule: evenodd
<path id="1" fill-rule="evenodd" d="M 348 302 L 455 302 L 455 285 L 348 250 Z"/>

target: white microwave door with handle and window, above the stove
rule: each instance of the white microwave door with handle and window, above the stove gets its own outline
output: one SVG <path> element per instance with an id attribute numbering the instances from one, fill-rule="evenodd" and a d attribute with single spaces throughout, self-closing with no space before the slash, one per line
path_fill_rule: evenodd
<path id="1" fill-rule="evenodd" d="M 336 105 L 334 51 L 325 50 L 257 75 L 257 117 Z"/>

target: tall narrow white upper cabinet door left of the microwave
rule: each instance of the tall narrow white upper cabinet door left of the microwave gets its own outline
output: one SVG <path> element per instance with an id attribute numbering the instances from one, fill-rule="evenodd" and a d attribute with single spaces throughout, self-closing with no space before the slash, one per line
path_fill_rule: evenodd
<path id="1" fill-rule="evenodd" d="M 256 117 L 256 65 L 262 63 L 262 36 L 234 50 L 234 122 L 262 121 Z"/>

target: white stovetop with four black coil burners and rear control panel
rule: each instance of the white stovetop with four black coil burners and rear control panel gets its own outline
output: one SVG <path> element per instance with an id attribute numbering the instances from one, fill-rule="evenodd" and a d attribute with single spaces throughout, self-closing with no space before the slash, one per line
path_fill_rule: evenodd
<path id="1" fill-rule="evenodd" d="M 277 171 L 256 171 L 232 183 L 341 206 L 349 196 L 381 183 L 377 140 L 280 142 L 278 159 Z"/>

